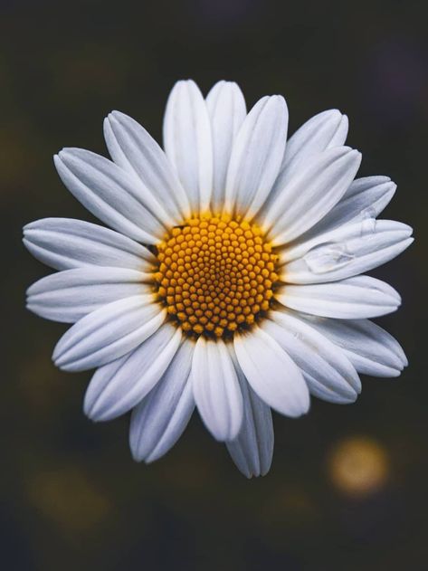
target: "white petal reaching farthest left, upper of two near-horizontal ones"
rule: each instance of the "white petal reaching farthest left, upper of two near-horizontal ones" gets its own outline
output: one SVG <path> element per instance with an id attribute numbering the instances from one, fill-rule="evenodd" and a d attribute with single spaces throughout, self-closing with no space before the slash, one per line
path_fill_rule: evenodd
<path id="1" fill-rule="evenodd" d="M 55 270 L 116 266 L 152 271 L 154 255 L 109 228 L 71 218 L 43 218 L 24 226 L 24 244 L 37 260 Z"/>

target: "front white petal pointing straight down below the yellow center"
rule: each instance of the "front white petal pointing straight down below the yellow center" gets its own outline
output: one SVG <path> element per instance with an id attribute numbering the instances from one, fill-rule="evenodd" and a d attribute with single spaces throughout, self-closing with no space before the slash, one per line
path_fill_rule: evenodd
<path id="1" fill-rule="evenodd" d="M 198 338 L 191 381 L 199 414 L 214 438 L 236 438 L 243 423 L 243 395 L 232 358 L 221 339 Z"/>

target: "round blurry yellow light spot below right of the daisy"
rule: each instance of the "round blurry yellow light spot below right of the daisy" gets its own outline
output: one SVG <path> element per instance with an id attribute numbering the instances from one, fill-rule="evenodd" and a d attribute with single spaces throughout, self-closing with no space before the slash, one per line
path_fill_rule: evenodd
<path id="1" fill-rule="evenodd" d="M 379 443 L 353 437 L 338 443 L 328 458 L 331 481 L 352 496 L 365 496 L 382 488 L 388 478 L 388 454 Z"/>

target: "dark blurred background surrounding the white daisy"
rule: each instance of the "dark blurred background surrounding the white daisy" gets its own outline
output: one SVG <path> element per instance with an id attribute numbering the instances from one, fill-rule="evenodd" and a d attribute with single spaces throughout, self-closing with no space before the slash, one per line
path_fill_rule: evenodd
<path id="1" fill-rule="evenodd" d="M 428 67 L 422 2 L 267 0 L 0 2 L 2 349 L 1 568 L 119 570 L 426 569 L 425 167 Z M 128 418 L 91 424 L 90 374 L 52 366 L 64 327 L 24 309 L 48 269 L 21 245 L 45 216 L 91 220 L 52 155 L 106 154 L 120 109 L 160 140 L 174 82 L 238 81 L 247 103 L 284 94 L 290 132 L 323 109 L 350 119 L 360 175 L 398 184 L 385 211 L 416 242 L 375 272 L 403 295 L 379 319 L 410 366 L 363 378 L 357 404 L 314 401 L 276 416 L 271 472 L 247 481 L 195 417 L 164 459 L 133 462 Z"/>

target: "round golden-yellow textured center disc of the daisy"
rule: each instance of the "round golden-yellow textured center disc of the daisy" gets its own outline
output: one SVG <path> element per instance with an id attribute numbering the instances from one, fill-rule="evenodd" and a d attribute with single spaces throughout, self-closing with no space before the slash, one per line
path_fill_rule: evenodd
<path id="1" fill-rule="evenodd" d="M 277 258 L 254 224 L 193 218 L 157 245 L 158 296 L 186 332 L 228 337 L 269 309 Z"/>

